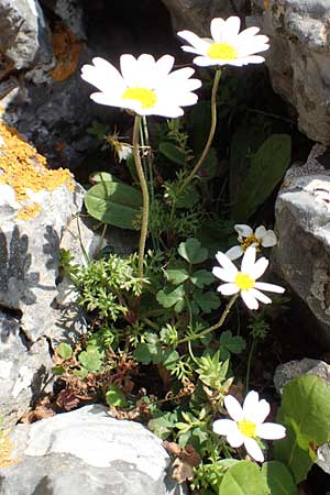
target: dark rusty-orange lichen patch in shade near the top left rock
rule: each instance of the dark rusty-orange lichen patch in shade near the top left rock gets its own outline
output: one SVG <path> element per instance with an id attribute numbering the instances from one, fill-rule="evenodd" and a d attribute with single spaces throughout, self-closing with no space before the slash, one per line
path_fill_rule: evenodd
<path id="1" fill-rule="evenodd" d="M 58 22 L 52 34 L 52 46 L 56 66 L 50 74 L 54 80 L 65 80 L 76 72 L 84 43 L 64 22 Z"/>

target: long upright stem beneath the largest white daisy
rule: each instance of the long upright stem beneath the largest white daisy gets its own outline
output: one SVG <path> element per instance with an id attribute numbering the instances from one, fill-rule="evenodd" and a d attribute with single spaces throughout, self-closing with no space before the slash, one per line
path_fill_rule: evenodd
<path id="1" fill-rule="evenodd" d="M 147 235 L 147 221 L 148 221 L 148 191 L 140 157 L 140 148 L 139 148 L 140 125 L 141 125 L 141 117 L 135 114 L 133 129 L 133 155 L 143 198 L 142 223 L 139 243 L 138 276 L 140 278 L 143 278 L 144 249 Z"/>

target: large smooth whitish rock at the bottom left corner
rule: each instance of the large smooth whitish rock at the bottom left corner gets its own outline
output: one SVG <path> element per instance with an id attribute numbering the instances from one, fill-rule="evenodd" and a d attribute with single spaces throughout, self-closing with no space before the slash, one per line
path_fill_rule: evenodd
<path id="1" fill-rule="evenodd" d="M 11 433 L 18 463 L 1 470 L 1 495 L 179 495 L 162 441 L 99 405 Z"/>

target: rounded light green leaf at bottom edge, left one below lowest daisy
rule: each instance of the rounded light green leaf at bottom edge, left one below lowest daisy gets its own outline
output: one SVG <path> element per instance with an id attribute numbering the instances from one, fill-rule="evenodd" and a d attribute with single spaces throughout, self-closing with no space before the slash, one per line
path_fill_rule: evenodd
<path id="1" fill-rule="evenodd" d="M 258 466 L 240 461 L 224 474 L 219 495 L 268 495 L 268 490 Z"/>

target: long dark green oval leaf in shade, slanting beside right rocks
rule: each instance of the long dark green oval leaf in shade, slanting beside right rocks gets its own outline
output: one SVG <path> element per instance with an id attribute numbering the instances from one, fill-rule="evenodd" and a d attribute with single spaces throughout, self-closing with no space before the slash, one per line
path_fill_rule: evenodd
<path id="1" fill-rule="evenodd" d="M 251 160 L 233 208 L 235 221 L 246 221 L 268 198 L 290 163 L 292 141 L 287 134 L 273 134 Z"/>

